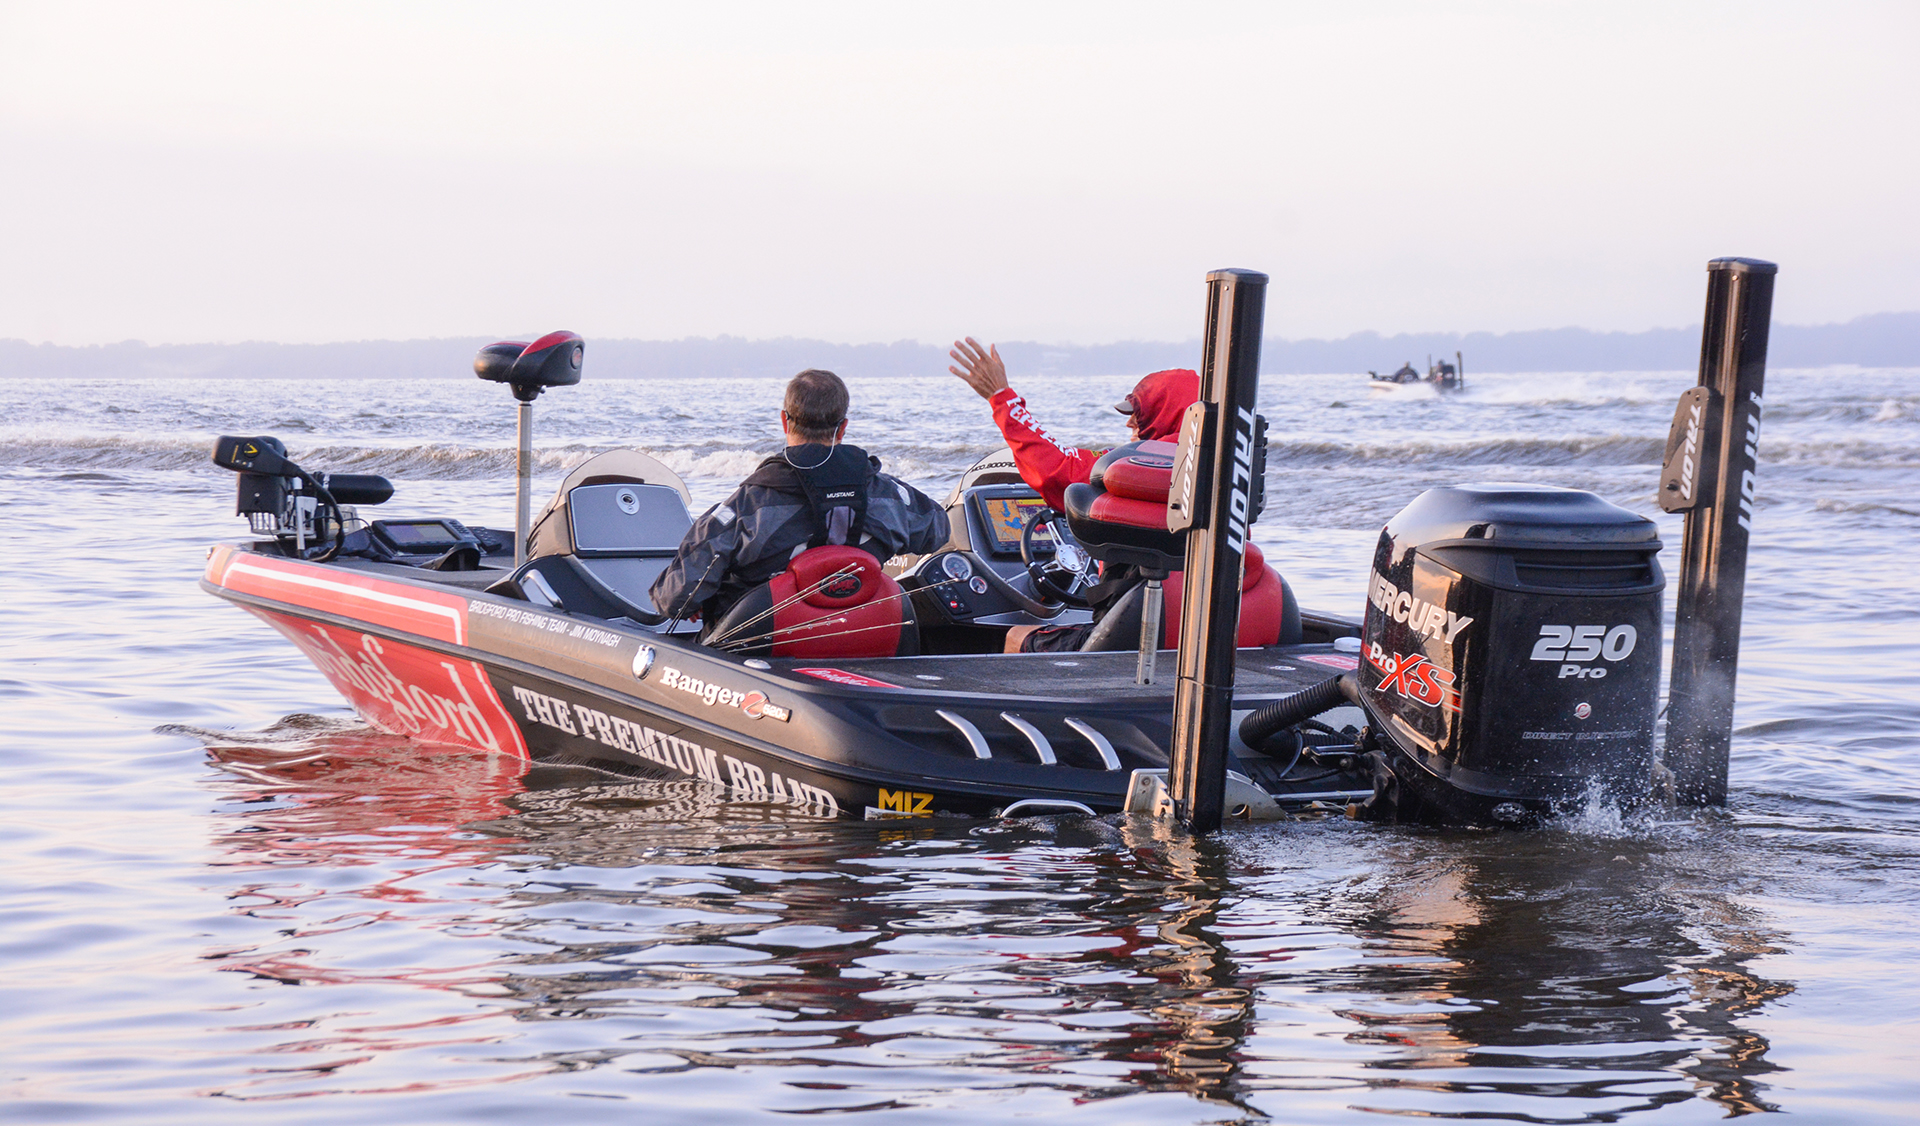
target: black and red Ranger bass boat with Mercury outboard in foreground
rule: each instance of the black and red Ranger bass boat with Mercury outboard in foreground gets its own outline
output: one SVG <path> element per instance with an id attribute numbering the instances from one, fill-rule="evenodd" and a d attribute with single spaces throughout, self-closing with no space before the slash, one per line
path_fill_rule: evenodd
<path id="1" fill-rule="evenodd" d="M 1244 307 L 1263 281 L 1210 284 L 1240 286 Z M 221 438 L 213 459 L 238 473 L 255 534 L 211 548 L 202 586 L 388 732 L 695 778 L 795 813 L 1204 822 L 1208 797 L 1183 782 L 1194 761 L 1223 819 L 1524 822 L 1596 796 L 1644 801 L 1665 588 L 1653 521 L 1578 490 L 1434 488 L 1380 532 L 1361 617 L 1300 609 L 1246 536 L 1263 492 L 1258 306 L 1231 332 L 1212 330 L 1217 313 L 1223 344 L 1179 444 L 1112 450 L 1062 513 L 1008 453 L 985 457 L 947 498 L 941 550 L 812 548 L 705 630 L 647 594 L 691 526 L 659 459 L 601 453 L 530 513 L 532 402 L 578 382 L 570 332 L 476 359 L 520 404 L 513 532 L 467 513 L 372 519 L 386 480 L 309 473 L 269 436 Z M 1083 651 L 1000 653 L 1010 626 L 1089 621 L 1100 565 L 1146 582 Z M 1204 674 L 1202 651 L 1219 655 Z"/>

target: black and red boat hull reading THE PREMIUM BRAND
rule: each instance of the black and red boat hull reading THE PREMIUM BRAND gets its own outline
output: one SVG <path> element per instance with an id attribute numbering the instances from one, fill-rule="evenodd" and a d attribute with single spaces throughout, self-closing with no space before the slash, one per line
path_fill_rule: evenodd
<path id="1" fill-rule="evenodd" d="M 756 669 L 685 636 L 394 571 L 219 546 L 202 584 L 292 640 L 367 722 L 528 763 L 695 778 L 820 817 L 989 817 L 1021 799 L 1108 813 L 1123 807 L 1135 769 L 1167 765 L 1171 686 L 1116 676 L 1131 676 L 1131 653 Z M 1092 688 L 1021 694 L 968 682 L 956 661 L 1048 690 L 1064 674 L 1035 661 L 1079 665 Z M 1248 705 L 1329 673 L 1308 661 L 1275 669 L 1286 673 L 1267 674 Z"/>

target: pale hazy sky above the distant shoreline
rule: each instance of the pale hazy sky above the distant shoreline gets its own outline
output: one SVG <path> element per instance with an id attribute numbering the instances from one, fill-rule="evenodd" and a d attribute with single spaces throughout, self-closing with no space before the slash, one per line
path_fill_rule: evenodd
<path id="1" fill-rule="evenodd" d="M 0 0 L 0 338 L 1920 309 L 1920 4 Z"/>

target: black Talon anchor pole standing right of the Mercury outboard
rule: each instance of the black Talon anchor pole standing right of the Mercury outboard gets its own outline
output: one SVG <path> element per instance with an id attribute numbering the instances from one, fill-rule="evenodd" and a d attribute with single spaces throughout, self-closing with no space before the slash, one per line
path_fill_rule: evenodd
<path id="1" fill-rule="evenodd" d="M 1674 667 L 1667 688 L 1667 769 L 1674 797 L 1726 805 L 1740 669 L 1740 605 L 1747 592 L 1766 334 L 1780 267 L 1751 257 L 1707 263 L 1699 386 L 1680 396 L 1667 436 L 1661 507 L 1686 513 Z"/>

